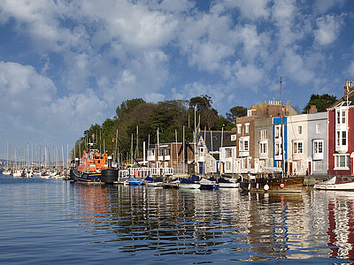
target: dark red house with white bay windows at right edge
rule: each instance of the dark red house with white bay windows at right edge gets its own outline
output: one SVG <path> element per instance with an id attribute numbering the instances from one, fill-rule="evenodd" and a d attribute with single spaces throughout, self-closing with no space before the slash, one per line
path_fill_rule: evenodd
<path id="1" fill-rule="evenodd" d="M 354 157 L 354 82 L 346 81 L 344 96 L 328 109 L 328 175 L 352 175 Z M 347 93 L 348 91 L 348 93 Z"/>

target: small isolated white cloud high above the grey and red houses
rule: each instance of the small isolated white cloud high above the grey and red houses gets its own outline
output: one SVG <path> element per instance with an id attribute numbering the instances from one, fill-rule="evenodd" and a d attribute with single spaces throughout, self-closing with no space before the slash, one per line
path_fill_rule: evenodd
<path id="1" fill-rule="evenodd" d="M 328 45 L 335 42 L 342 27 L 342 18 L 335 15 L 326 15 L 317 19 L 318 29 L 314 31 L 315 42 L 319 45 Z"/>

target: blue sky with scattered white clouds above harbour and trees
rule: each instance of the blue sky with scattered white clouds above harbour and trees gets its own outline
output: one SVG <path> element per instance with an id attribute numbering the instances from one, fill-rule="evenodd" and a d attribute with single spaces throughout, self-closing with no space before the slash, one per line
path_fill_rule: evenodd
<path id="1" fill-rule="evenodd" d="M 209 95 L 225 116 L 280 100 L 280 78 L 299 110 L 343 95 L 354 1 L 0 0 L 0 158 L 73 148 L 133 98 Z"/>

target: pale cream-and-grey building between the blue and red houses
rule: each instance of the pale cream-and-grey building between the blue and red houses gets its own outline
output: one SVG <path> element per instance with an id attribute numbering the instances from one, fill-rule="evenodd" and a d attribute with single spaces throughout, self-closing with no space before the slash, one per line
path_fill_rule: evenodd
<path id="1" fill-rule="evenodd" d="M 289 174 L 326 175 L 327 113 L 288 117 L 288 150 Z"/>

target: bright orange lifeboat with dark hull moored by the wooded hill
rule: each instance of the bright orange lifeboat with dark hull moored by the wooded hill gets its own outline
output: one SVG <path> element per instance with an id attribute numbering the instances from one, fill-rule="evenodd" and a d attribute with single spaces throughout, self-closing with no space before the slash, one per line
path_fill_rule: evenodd
<path id="1" fill-rule="evenodd" d="M 81 183 L 101 184 L 102 170 L 106 169 L 108 169 L 107 154 L 101 154 L 97 149 L 83 150 L 74 178 Z"/>

